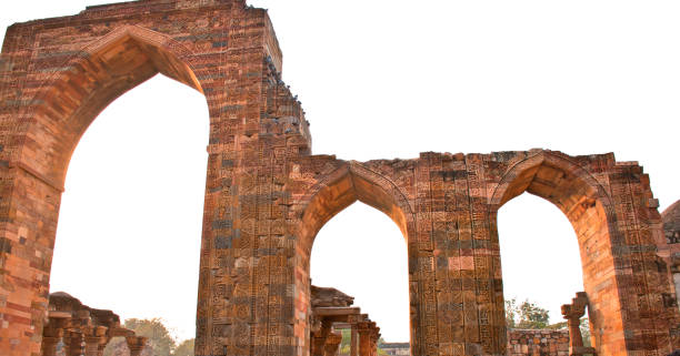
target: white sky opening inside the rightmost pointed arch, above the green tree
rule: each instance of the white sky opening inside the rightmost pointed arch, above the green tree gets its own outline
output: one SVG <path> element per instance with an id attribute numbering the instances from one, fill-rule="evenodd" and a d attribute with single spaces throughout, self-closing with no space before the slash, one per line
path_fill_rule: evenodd
<path id="1" fill-rule="evenodd" d="M 534 216 L 541 216 L 537 220 Z M 523 193 L 502 206 L 498 214 L 503 295 L 549 312 L 550 318 L 510 328 L 563 323 L 560 306 L 583 291 L 583 271 L 573 227 L 563 213 L 539 196 Z M 527 325 L 528 324 L 528 325 Z M 566 326 L 564 326 L 566 327 Z M 584 340 L 586 342 L 586 340 Z"/>

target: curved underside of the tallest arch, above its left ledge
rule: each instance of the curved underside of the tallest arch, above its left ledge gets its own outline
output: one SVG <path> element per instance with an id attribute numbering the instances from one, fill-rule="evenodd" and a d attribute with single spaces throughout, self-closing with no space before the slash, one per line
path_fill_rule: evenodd
<path id="1" fill-rule="evenodd" d="M 136 26 L 117 29 L 82 49 L 37 93 L 38 105 L 26 113 L 36 120 L 20 162 L 62 190 L 80 138 L 117 98 L 158 73 L 203 93 L 183 52 L 188 53 L 164 34 Z"/>

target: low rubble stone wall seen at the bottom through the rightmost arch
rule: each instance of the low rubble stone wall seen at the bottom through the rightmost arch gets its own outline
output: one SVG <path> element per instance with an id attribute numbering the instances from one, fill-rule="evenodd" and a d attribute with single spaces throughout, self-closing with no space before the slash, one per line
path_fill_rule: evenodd
<path id="1" fill-rule="evenodd" d="M 569 330 L 508 329 L 508 356 L 567 356 Z"/>

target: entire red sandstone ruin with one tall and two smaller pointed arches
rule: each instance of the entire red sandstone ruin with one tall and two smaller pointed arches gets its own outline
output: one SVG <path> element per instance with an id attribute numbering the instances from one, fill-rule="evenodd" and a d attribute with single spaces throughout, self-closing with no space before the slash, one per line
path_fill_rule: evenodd
<path id="1" fill-rule="evenodd" d="M 649 179 L 612 154 L 534 150 L 344 162 L 311 155 L 264 10 L 141 0 L 14 24 L 0 57 L 0 355 L 38 355 L 60 196 L 88 125 L 163 73 L 206 95 L 197 355 L 308 355 L 317 232 L 361 201 L 409 248 L 413 355 L 506 353 L 496 216 L 529 192 L 571 221 L 600 355 L 676 347 L 678 309 Z M 113 306 L 116 307 L 116 306 Z"/>

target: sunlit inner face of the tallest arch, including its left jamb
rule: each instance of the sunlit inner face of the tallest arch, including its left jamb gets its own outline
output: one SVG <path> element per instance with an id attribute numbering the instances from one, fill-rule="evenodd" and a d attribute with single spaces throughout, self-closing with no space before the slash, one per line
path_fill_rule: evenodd
<path id="1" fill-rule="evenodd" d="M 37 88 L 30 104 L 19 108 L 17 116 L 30 119 L 18 128 L 17 145 L 6 148 L 12 151 L 8 169 L 16 179 L 10 221 L 18 226 L 19 240 L 28 241 L 16 248 L 33 248 L 41 261 L 32 261 L 33 268 L 22 271 L 32 272 L 23 277 L 34 284 L 21 291 L 33 294 L 30 299 L 37 311 L 31 328 L 38 335 L 42 318 L 37 312 L 38 306 L 47 307 L 61 192 L 80 138 L 109 103 L 159 72 L 202 93 L 187 60 L 190 53 L 168 35 L 123 26 L 93 39 L 76 54 L 60 58 L 60 70 Z M 16 276 L 8 279 L 6 286 L 14 291 L 22 286 Z"/>

